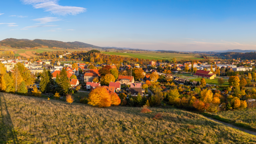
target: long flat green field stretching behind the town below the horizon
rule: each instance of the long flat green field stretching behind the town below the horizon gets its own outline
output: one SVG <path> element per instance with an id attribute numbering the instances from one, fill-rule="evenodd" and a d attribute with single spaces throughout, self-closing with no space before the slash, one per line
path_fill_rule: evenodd
<path id="1" fill-rule="evenodd" d="M 173 53 L 156 53 L 156 52 L 142 52 L 142 53 L 122 53 L 122 52 L 102 52 L 108 55 L 124 56 L 128 58 L 144 58 L 150 60 L 172 60 L 172 58 L 177 58 L 177 60 L 199 60 L 199 58 L 194 54 L 173 54 Z"/>

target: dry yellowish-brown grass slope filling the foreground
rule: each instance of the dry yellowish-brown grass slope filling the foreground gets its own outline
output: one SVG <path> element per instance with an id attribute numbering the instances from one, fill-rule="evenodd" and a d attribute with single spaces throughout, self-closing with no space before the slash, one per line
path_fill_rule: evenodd
<path id="1" fill-rule="evenodd" d="M 0 93 L 0 143 L 256 143 L 256 137 L 176 108 L 97 108 Z M 153 120 L 157 113 L 163 118 Z"/>

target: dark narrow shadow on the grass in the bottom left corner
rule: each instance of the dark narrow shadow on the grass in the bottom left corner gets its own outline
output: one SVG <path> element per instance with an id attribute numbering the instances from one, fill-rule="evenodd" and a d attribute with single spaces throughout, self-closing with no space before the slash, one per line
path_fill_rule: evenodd
<path id="1" fill-rule="evenodd" d="M 12 118 L 8 111 L 6 101 L 4 100 L 4 96 L 0 96 L 0 109 L 1 109 L 0 143 L 1 144 L 6 144 L 6 143 L 18 144 L 18 139 L 16 136 L 16 132 L 14 130 Z"/>

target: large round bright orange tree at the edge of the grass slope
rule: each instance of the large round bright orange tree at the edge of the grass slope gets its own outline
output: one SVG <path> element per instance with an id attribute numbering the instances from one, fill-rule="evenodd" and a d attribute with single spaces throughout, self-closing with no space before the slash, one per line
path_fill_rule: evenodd
<path id="1" fill-rule="evenodd" d="M 106 88 L 98 86 L 89 94 L 88 104 L 98 107 L 111 106 L 111 96 Z"/>

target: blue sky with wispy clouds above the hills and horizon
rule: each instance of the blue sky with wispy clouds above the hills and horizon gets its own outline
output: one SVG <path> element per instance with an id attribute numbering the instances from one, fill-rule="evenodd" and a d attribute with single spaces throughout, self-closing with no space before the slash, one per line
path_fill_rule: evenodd
<path id="1" fill-rule="evenodd" d="M 1 0 L 0 40 L 256 50 L 255 0 Z"/>

